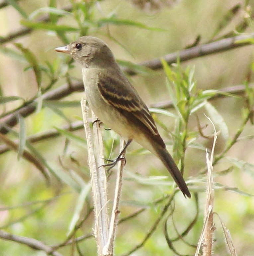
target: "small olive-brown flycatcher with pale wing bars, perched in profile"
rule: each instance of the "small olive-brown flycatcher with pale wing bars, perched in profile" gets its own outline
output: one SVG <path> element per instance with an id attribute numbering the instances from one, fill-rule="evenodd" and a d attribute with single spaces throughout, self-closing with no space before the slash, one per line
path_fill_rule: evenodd
<path id="1" fill-rule="evenodd" d="M 95 115 L 115 132 L 156 155 L 184 196 L 188 187 L 160 137 L 155 122 L 135 88 L 117 64 L 109 47 L 96 37 L 84 36 L 55 51 L 67 53 L 82 66 L 87 101 Z"/>

